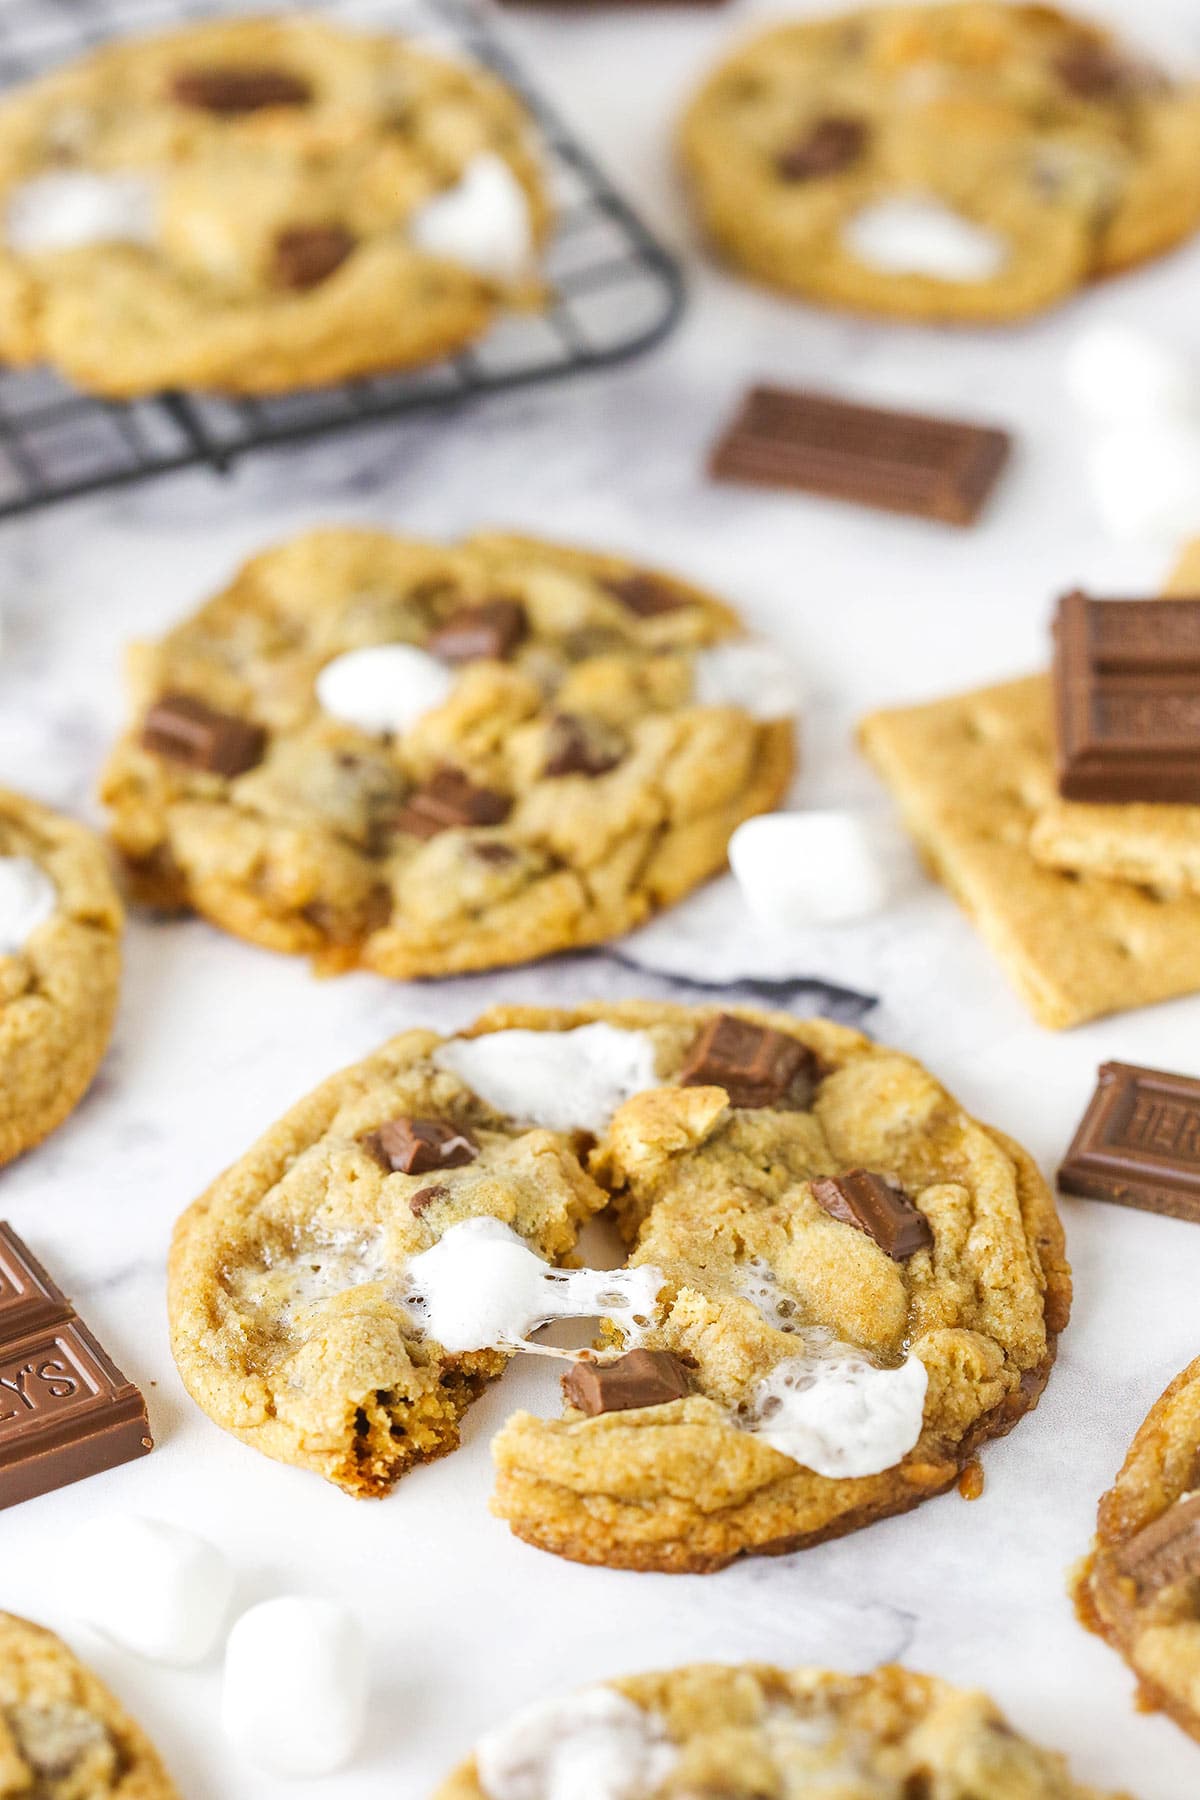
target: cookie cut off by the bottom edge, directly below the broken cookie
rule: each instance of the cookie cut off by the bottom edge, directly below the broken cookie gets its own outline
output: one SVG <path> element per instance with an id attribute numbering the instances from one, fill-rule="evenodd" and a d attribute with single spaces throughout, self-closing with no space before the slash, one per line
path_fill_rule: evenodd
<path id="1" fill-rule="evenodd" d="M 1103 1800 L 986 1694 L 896 1665 L 842 1676 L 763 1663 L 696 1663 L 540 1701 L 491 1732 L 434 1800 L 549 1795 L 572 1768 L 628 1800 Z"/>

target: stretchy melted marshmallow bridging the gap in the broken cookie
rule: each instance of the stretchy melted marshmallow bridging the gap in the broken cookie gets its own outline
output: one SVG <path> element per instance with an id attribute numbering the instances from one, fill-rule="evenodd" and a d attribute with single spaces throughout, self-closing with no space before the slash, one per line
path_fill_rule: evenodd
<path id="1" fill-rule="evenodd" d="M 626 1346 L 657 1312 L 660 1269 L 554 1269 L 498 1219 L 462 1219 L 408 1264 L 403 1303 L 443 1350 L 542 1350 L 551 1319 L 612 1319 Z"/>

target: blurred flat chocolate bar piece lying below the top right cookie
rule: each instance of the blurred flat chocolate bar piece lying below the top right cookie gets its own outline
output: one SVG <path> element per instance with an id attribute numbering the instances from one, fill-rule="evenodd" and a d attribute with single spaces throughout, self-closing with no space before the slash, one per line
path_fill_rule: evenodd
<path id="1" fill-rule="evenodd" d="M 752 387 L 712 450 L 709 473 L 970 526 L 1007 454 L 1007 434 L 986 425 Z"/>

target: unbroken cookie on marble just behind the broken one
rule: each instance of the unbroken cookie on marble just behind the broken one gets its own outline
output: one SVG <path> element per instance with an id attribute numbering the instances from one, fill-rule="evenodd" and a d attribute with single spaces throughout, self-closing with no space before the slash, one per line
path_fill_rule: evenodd
<path id="1" fill-rule="evenodd" d="M 792 722 L 714 689 L 747 648 L 727 607 L 619 558 L 315 531 L 137 652 L 113 837 L 151 904 L 326 970 L 597 943 L 723 868 L 732 830 L 786 790 Z M 363 657 L 372 682 L 383 659 L 367 698 L 385 709 L 416 668 L 401 729 L 365 729 L 387 720 L 362 711 Z M 347 671 L 349 707 L 331 686 Z M 173 745 L 164 697 L 214 709 L 219 745 L 198 751 L 187 716 Z"/>

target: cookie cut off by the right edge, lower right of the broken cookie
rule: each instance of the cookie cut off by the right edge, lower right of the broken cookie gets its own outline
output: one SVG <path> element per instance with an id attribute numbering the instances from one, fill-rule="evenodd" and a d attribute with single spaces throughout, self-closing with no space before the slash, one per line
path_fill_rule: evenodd
<path id="1" fill-rule="evenodd" d="M 1099 1503 L 1079 1616 L 1126 1660 L 1139 1705 L 1200 1739 L 1200 1359 L 1141 1424 Z"/>

